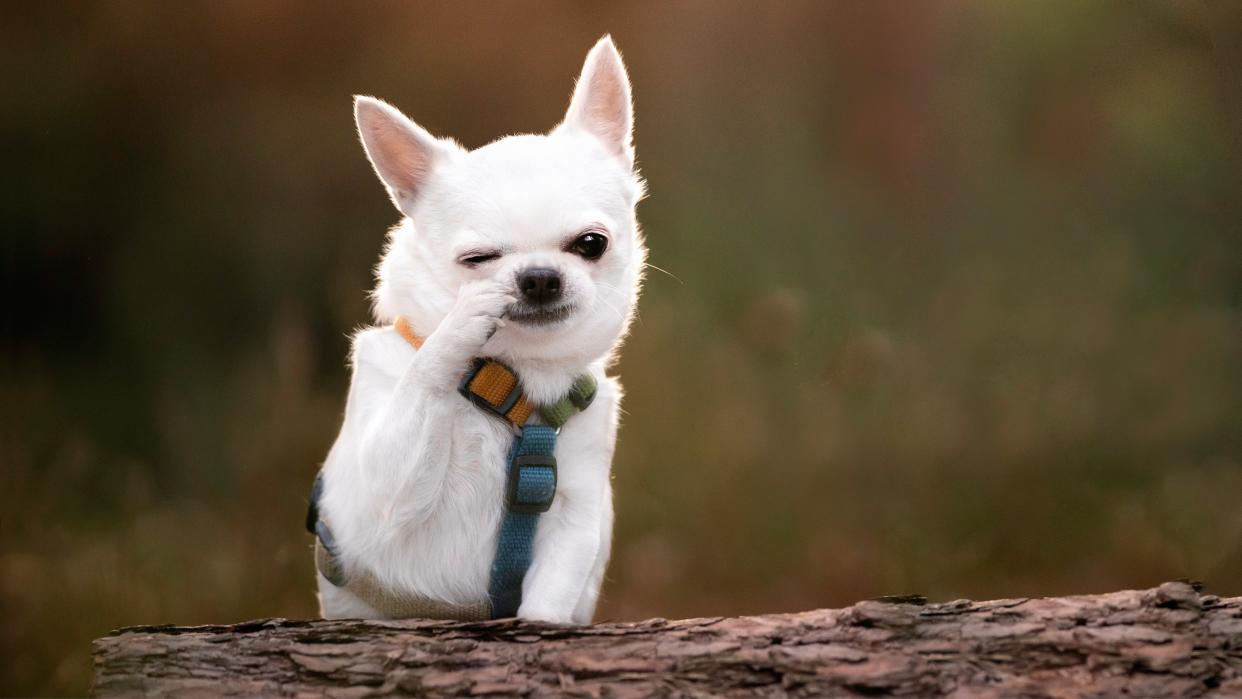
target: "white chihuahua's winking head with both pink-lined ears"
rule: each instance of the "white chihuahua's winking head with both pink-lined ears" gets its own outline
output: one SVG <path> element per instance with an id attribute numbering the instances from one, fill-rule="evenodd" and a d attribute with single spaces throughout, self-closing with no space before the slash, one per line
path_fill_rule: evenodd
<path id="1" fill-rule="evenodd" d="M 517 302 L 483 353 L 590 360 L 625 334 L 646 251 L 635 219 L 630 79 L 612 40 L 591 48 L 565 119 L 477 150 L 432 137 L 391 106 L 354 103 L 366 155 L 405 215 L 389 235 L 378 320 L 430 334 L 458 288 L 491 278 Z"/>

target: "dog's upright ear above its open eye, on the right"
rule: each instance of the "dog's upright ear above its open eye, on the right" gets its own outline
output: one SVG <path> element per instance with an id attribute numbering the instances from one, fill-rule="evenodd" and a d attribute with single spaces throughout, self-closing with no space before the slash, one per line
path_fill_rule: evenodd
<path id="1" fill-rule="evenodd" d="M 581 129 L 595 135 L 617 158 L 633 165 L 630 76 L 611 36 L 601 38 L 586 55 L 561 128 Z"/>

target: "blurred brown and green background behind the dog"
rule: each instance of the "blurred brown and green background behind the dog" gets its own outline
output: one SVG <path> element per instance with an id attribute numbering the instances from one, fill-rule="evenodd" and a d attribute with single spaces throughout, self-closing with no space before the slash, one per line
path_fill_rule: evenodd
<path id="1" fill-rule="evenodd" d="M 1242 592 L 1231 2 L 27 4 L 0 22 L 0 690 L 315 613 L 396 221 L 350 96 L 550 128 L 605 32 L 652 271 L 600 618 Z"/>

